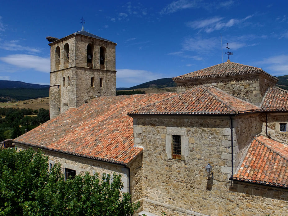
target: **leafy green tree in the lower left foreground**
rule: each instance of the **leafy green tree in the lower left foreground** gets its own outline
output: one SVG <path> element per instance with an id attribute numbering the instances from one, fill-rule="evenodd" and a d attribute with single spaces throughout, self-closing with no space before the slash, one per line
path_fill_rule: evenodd
<path id="1" fill-rule="evenodd" d="M 0 216 L 131 215 L 139 203 L 121 194 L 121 176 L 76 175 L 65 181 L 60 164 L 48 170 L 48 158 L 32 149 L 0 149 Z"/>

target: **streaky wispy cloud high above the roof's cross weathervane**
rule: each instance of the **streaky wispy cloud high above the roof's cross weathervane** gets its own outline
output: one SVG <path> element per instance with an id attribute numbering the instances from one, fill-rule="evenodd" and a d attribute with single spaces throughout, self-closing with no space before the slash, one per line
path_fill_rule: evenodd
<path id="1" fill-rule="evenodd" d="M 205 31 L 207 33 L 213 32 L 215 30 L 220 30 L 223 28 L 229 28 L 233 25 L 238 25 L 247 19 L 250 19 L 253 15 L 246 16 L 244 19 L 230 19 L 227 22 L 223 21 L 224 17 L 212 17 L 205 20 L 197 20 L 192 22 L 187 22 L 187 26 L 193 29 L 200 29 L 200 31 Z"/>

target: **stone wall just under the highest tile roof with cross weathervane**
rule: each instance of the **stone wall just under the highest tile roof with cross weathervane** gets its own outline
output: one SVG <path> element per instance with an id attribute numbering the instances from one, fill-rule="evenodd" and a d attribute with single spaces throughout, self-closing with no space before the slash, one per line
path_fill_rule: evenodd
<path id="1" fill-rule="evenodd" d="M 259 75 L 233 76 L 214 79 L 193 79 L 177 82 L 177 91 L 183 92 L 197 85 L 212 85 L 229 94 L 249 101 L 256 106 L 262 101 L 269 86 L 275 86 L 275 82 Z"/>

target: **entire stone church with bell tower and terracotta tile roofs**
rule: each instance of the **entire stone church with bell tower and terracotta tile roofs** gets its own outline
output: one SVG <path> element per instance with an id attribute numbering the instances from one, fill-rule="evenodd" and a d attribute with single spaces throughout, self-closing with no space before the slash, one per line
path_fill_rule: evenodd
<path id="1" fill-rule="evenodd" d="M 115 96 L 115 46 L 82 29 L 51 47 L 50 120 L 13 140 L 67 177 L 122 176 L 135 215 L 288 215 L 288 91 L 231 61 L 177 92 Z"/>

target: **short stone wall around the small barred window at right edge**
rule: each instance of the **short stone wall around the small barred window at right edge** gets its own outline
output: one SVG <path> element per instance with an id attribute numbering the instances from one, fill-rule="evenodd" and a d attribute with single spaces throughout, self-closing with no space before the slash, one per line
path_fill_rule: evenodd
<path id="1" fill-rule="evenodd" d="M 280 131 L 280 124 L 286 123 L 286 132 Z M 268 114 L 268 135 L 278 142 L 288 143 L 288 113 Z M 266 134 L 266 122 L 263 122 L 263 135 Z"/>

